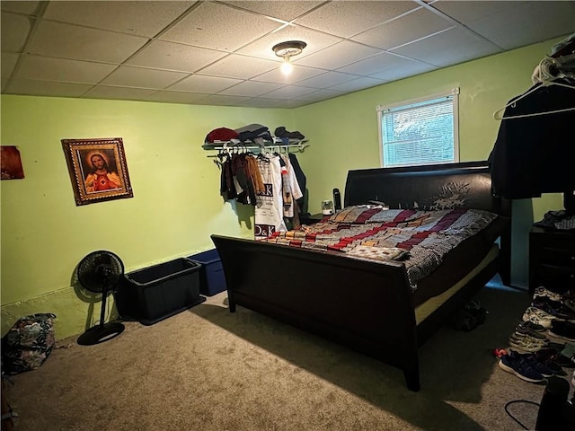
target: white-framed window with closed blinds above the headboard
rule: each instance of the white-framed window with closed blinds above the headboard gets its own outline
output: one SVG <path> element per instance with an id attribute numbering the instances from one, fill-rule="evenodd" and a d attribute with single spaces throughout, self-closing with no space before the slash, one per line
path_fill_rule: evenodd
<path id="1" fill-rule="evenodd" d="M 459 162 L 458 94 L 378 106 L 382 166 Z"/>

